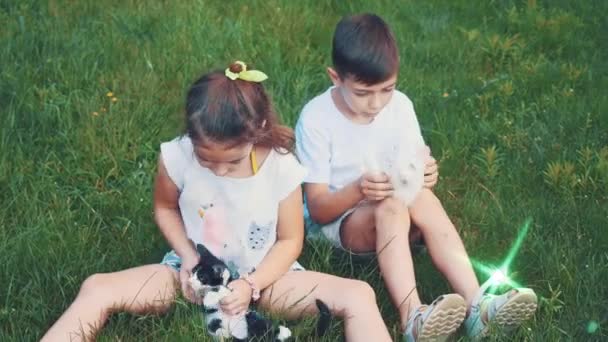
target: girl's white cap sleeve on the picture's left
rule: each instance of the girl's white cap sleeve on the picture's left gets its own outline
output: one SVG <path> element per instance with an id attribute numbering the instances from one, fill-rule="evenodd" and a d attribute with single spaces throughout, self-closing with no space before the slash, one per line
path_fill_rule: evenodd
<path id="1" fill-rule="evenodd" d="M 160 144 L 160 154 L 169 178 L 182 191 L 184 171 L 192 161 L 192 143 L 186 137 L 178 137 Z"/>

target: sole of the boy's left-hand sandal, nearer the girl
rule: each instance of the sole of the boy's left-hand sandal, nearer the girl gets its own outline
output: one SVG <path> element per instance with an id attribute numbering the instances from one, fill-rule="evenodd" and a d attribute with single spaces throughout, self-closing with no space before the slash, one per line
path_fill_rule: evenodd
<path id="1" fill-rule="evenodd" d="M 466 305 L 461 296 L 444 295 L 443 299 L 435 304 L 433 313 L 425 320 L 416 341 L 447 341 L 462 325 L 466 311 Z"/>

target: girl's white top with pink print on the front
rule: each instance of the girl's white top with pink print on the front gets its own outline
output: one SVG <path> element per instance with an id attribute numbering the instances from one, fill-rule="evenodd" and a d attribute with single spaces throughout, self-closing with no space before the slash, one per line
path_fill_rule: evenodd
<path id="1" fill-rule="evenodd" d="M 217 257 L 241 274 L 252 272 L 276 241 L 280 201 L 301 185 L 306 169 L 293 154 L 271 149 L 255 175 L 219 177 L 199 164 L 187 136 L 162 143 L 161 156 L 179 190 L 188 238 L 204 245 L 206 224 L 221 226 L 225 247 L 237 252 Z"/>

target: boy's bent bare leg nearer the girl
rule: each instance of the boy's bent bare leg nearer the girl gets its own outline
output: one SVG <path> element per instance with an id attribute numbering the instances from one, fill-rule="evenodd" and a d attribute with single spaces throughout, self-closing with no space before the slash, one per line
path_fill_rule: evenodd
<path id="1" fill-rule="evenodd" d="M 405 327 L 420 306 L 408 239 L 409 213 L 400 201 L 387 198 L 358 207 L 340 229 L 342 245 L 353 252 L 376 251 L 382 277 Z"/>

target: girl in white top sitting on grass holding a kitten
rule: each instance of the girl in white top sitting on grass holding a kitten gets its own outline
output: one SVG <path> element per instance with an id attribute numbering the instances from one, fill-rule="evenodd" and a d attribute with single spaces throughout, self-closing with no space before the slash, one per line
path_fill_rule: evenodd
<path id="1" fill-rule="evenodd" d="M 226 227 L 224 261 L 240 278 L 222 302 L 229 314 L 256 301 L 297 318 L 317 312 L 315 299 L 345 320 L 348 341 L 390 341 L 374 291 L 364 282 L 305 271 L 297 263 L 304 222 L 305 169 L 290 153 L 292 131 L 278 123 L 261 84 L 266 75 L 235 62 L 198 79 L 186 99 L 186 134 L 161 144 L 155 220 L 173 250 L 160 264 L 84 281 L 78 296 L 43 341 L 94 338 L 109 315 L 162 313 L 188 278 L 206 227 Z M 271 298 L 272 297 L 272 298 Z"/>

